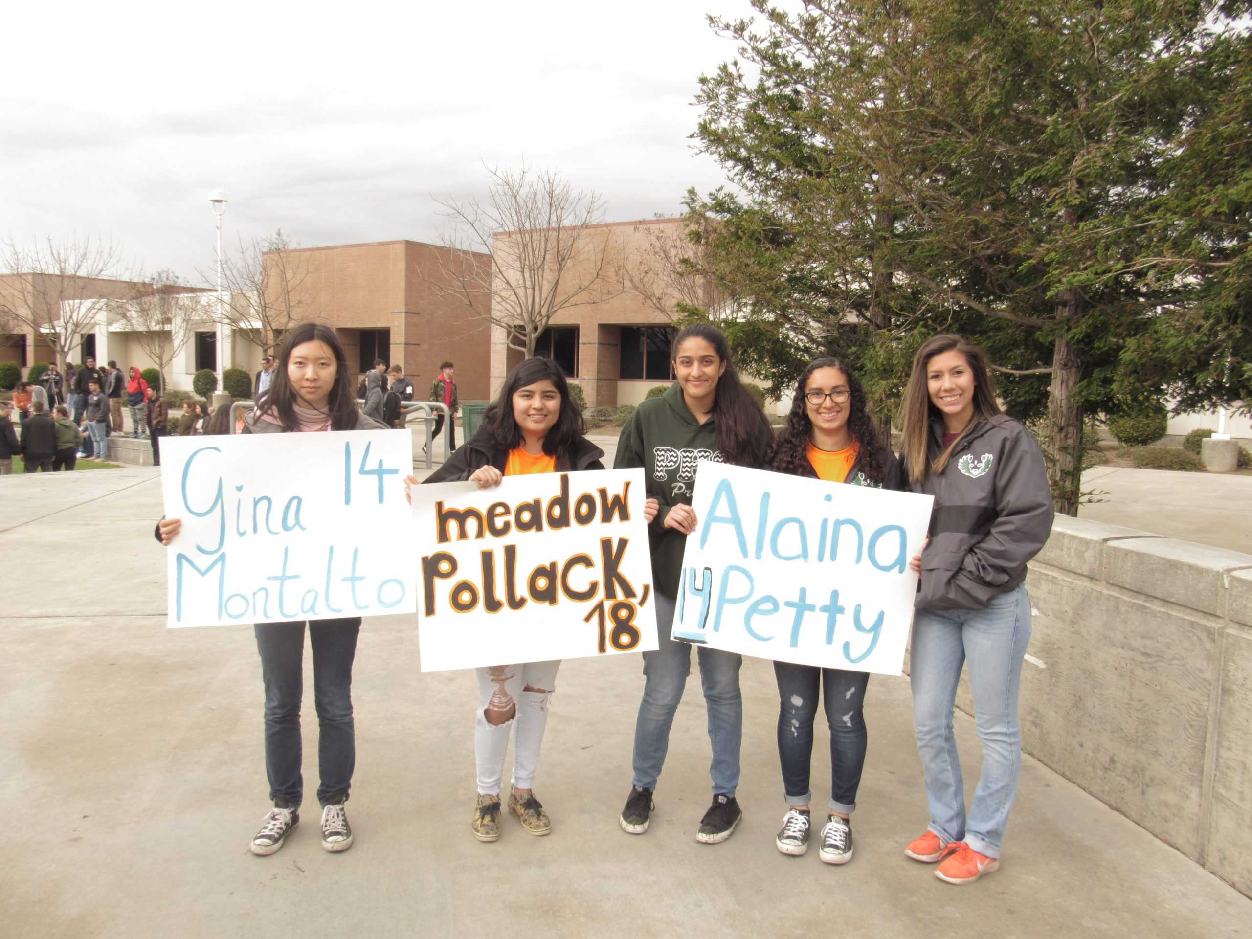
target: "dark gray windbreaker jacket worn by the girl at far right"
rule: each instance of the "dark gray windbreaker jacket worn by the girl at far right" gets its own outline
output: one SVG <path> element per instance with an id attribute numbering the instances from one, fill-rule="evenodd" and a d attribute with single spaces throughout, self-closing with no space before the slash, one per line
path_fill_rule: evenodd
<path id="1" fill-rule="evenodd" d="M 943 452 L 943 422 L 931 421 L 931 459 Z M 979 421 L 942 473 L 909 488 L 935 497 L 918 610 L 985 610 L 1025 580 L 1027 562 L 1052 532 L 1043 451 L 1004 414 Z"/>

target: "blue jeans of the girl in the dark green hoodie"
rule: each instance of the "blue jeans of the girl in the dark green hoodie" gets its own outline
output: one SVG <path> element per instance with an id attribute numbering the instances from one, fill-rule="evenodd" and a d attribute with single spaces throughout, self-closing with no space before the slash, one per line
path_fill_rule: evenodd
<path id="1" fill-rule="evenodd" d="M 674 642 L 674 600 L 659 592 L 656 632 L 660 647 L 644 652 L 644 700 L 635 721 L 634 785 L 656 789 L 670 747 L 674 712 L 691 674 L 691 646 Z M 735 795 L 739 786 L 739 745 L 744 736 L 744 699 L 739 692 L 739 666 L 744 657 L 734 652 L 700 646 L 700 684 L 709 710 L 709 741 L 712 744 L 714 795 Z"/>

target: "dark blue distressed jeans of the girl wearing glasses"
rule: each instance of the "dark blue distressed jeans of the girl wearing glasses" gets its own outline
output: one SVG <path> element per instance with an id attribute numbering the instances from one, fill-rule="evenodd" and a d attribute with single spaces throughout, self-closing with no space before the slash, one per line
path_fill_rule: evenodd
<path id="1" fill-rule="evenodd" d="M 823 697 L 830 726 L 830 801 L 840 815 L 856 809 L 856 790 L 865 767 L 865 689 L 863 671 L 819 669 L 815 665 L 774 662 L 779 682 L 779 760 L 788 805 L 809 805 L 809 767 L 813 761 L 813 721 L 818 695 Z"/>

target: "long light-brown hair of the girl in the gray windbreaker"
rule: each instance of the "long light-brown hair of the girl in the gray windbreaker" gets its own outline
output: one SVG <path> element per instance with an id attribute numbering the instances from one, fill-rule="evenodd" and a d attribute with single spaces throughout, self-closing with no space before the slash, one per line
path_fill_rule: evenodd
<path id="1" fill-rule="evenodd" d="M 974 376 L 974 413 L 957 438 L 943 448 L 943 452 L 930 461 L 930 418 L 942 417 L 942 412 L 930 403 L 930 389 L 926 383 L 926 369 L 930 359 L 944 352 L 959 352 L 969 363 Z M 962 437 L 973 429 L 980 419 L 1003 413 L 995 401 L 995 383 L 992 369 L 987 364 L 987 353 L 963 336 L 944 333 L 921 343 L 918 354 L 913 357 L 913 371 L 909 372 L 909 387 L 904 392 L 904 467 L 911 482 L 921 482 L 930 473 L 942 473 L 948 466 Z"/>

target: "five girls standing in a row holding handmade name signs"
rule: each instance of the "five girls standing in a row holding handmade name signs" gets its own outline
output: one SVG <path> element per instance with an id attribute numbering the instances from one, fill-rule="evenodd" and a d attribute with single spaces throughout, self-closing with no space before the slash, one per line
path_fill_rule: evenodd
<path id="1" fill-rule="evenodd" d="M 685 538 L 696 530 L 691 507 L 695 452 L 701 458 L 853 486 L 923 492 L 935 498 L 929 538 L 910 566 L 920 576 L 913 626 L 910 680 L 918 752 L 930 823 L 904 849 L 939 863 L 940 879 L 965 884 L 997 869 L 1020 772 L 1018 689 L 1030 636 L 1027 562 L 1052 526 L 1052 496 L 1043 454 L 1025 428 L 1000 413 L 985 356 L 957 336 L 925 342 L 914 358 L 903 409 L 903 453 L 891 452 L 866 408 L 856 376 L 835 358 L 801 374 L 786 426 L 771 441 L 760 406 L 746 392 L 722 333 L 690 326 L 674 341 L 676 382 L 645 401 L 622 429 L 615 468 L 646 470 L 656 651 L 644 652 L 644 694 L 635 722 L 623 831 L 649 830 L 670 729 L 686 679 L 691 646 L 670 641 Z M 308 432 L 381 427 L 352 401 L 343 347 L 327 327 L 307 324 L 284 337 L 279 367 L 250 432 Z M 470 480 L 497 486 L 505 476 L 601 470 L 603 452 L 585 436 L 561 369 L 530 358 L 507 377 L 480 432 L 427 483 Z M 692 451 L 692 458 L 657 454 Z M 407 486 L 416 485 L 409 477 Z M 178 520 L 163 520 L 169 543 Z M 352 657 L 361 620 L 309 622 L 323 805 L 323 848 L 344 850 L 352 831 L 343 805 L 352 776 Z M 299 687 L 304 623 L 259 623 L 257 642 L 265 682 L 265 764 L 274 808 L 252 843 L 277 851 L 298 821 Z M 717 844 L 742 819 L 736 800 L 742 737 L 741 656 L 697 647 L 712 749 L 712 801 L 696 839 Z M 969 665 L 983 769 L 967 813 L 953 735 L 953 707 Z M 478 669 L 475 710 L 477 796 L 471 828 L 482 841 L 501 836 L 501 790 L 510 736 L 515 757 L 508 814 L 532 835 L 552 821 L 533 784 L 558 661 Z M 820 829 L 820 858 L 853 856 L 851 815 L 865 764 L 865 672 L 775 662 L 777 744 L 786 811 L 775 844 L 803 855 L 810 841 L 810 764 L 818 702 L 830 727 L 831 791 Z M 836 714 L 838 709 L 838 714 Z"/>

